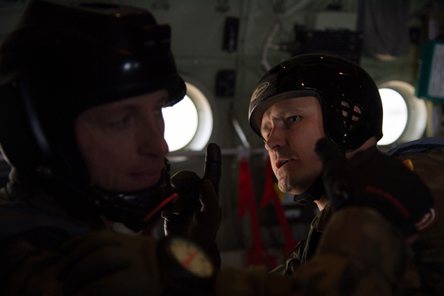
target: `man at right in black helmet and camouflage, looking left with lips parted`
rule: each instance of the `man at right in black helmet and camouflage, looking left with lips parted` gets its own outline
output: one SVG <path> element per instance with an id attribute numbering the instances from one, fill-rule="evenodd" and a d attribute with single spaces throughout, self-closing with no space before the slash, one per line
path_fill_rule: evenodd
<path id="1" fill-rule="evenodd" d="M 442 246 L 442 139 L 381 154 L 377 85 L 359 65 L 324 54 L 268 71 L 250 99 L 249 120 L 279 188 L 320 210 L 307 239 L 274 272 L 299 277 L 313 295 L 438 293 L 442 270 L 419 260 L 418 274 L 411 249 L 422 258 Z"/>

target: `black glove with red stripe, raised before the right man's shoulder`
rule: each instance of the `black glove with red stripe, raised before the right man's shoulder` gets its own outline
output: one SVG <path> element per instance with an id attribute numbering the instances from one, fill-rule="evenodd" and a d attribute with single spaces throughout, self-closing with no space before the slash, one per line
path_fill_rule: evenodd
<path id="1" fill-rule="evenodd" d="M 358 152 L 348 161 L 345 153 L 323 138 L 315 151 L 323 163 L 325 192 L 332 209 L 344 206 L 375 208 L 404 235 L 432 208 L 432 195 L 419 177 L 376 147 Z"/>

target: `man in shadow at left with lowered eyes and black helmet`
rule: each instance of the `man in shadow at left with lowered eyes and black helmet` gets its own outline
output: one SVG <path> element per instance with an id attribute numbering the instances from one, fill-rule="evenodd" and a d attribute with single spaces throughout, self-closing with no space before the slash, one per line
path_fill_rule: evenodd
<path id="1" fill-rule="evenodd" d="M 189 294 L 168 253 L 189 245 L 210 253 L 214 277 L 220 149 L 209 145 L 203 179 L 185 172 L 171 187 L 162 108 L 185 83 L 170 35 L 140 8 L 31 1 L 4 40 L 1 295 Z M 165 227 L 181 244 L 138 236 L 176 200 Z"/>

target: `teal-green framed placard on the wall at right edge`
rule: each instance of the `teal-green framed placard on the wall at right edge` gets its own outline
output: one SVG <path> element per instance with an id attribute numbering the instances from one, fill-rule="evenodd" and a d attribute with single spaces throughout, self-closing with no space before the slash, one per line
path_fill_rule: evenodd
<path id="1" fill-rule="evenodd" d="M 415 95 L 444 104 L 444 42 L 426 41 L 420 53 L 420 74 Z"/>

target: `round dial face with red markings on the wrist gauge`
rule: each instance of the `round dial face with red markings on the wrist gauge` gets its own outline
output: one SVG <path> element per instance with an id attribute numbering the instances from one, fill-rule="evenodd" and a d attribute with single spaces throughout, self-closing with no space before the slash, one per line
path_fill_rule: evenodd
<path id="1" fill-rule="evenodd" d="M 189 272 L 198 277 L 210 278 L 214 274 L 214 265 L 201 247 L 190 240 L 171 238 L 171 254 Z"/>

